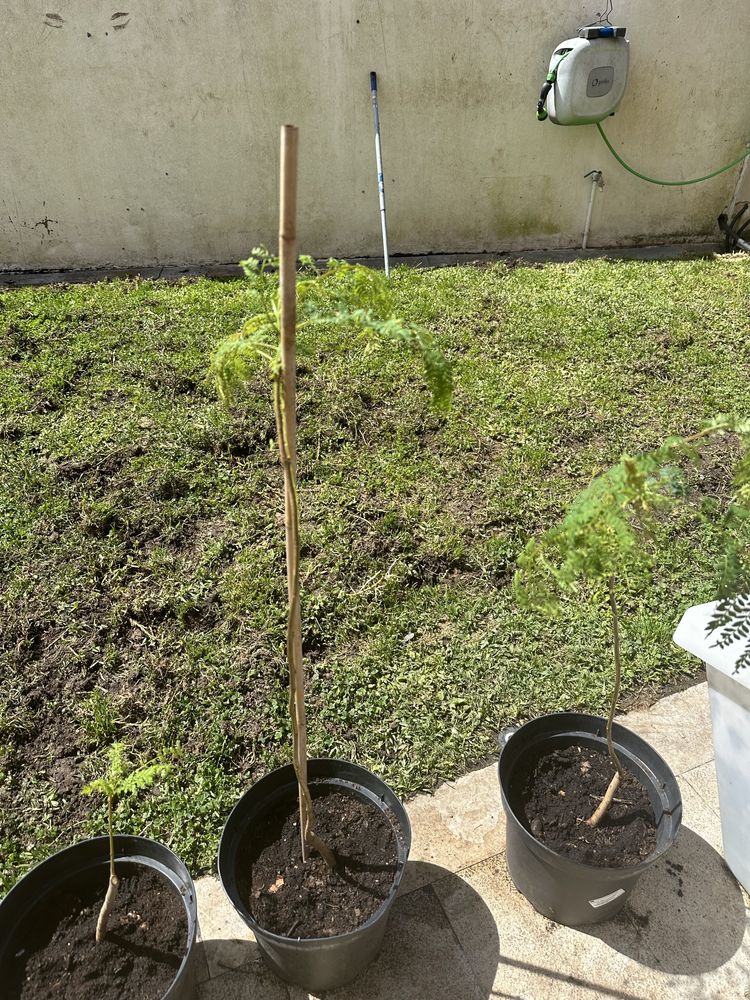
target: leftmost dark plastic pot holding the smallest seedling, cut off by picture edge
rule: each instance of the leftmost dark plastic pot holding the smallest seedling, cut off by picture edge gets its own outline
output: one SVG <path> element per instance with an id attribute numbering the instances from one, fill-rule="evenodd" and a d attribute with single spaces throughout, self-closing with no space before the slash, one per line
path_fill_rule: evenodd
<path id="1" fill-rule="evenodd" d="M 146 837 L 115 837 L 118 871 L 141 866 L 163 875 L 181 897 L 187 918 L 185 957 L 162 1000 L 192 1000 L 195 996 L 194 951 L 198 930 L 195 887 L 182 861 L 156 840 Z M 32 868 L 0 902 L 0 983 L 16 981 L 18 952 L 24 948 L 26 928 L 43 912 L 50 894 L 98 877 L 101 871 L 102 899 L 109 877 L 109 838 L 93 837 L 66 847 Z M 4 994 L 3 994 L 4 995 Z"/>

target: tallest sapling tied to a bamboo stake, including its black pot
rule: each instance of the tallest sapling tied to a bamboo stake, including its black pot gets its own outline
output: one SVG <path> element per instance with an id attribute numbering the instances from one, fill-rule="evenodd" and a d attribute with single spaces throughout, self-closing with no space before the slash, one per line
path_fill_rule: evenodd
<path id="1" fill-rule="evenodd" d="M 394 313 L 379 272 L 330 260 L 319 270 L 296 257 L 297 133 L 282 129 L 280 256 L 263 248 L 243 262 L 256 311 L 213 357 L 219 392 L 241 403 L 267 375 L 283 472 L 287 570 L 286 658 L 293 763 L 266 775 L 239 800 L 222 834 L 219 876 L 270 967 L 307 990 L 353 979 L 380 949 L 410 844 L 406 812 L 391 789 L 357 764 L 308 759 L 301 641 L 300 510 L 297 479 L 297 337 L 314 342 L 340 328 L 353 350 L 416 355 L 435 404 L 445 408 L 450 367 L 430 334 Z M 301 265 L 299 280 L 296 273 Z"/>

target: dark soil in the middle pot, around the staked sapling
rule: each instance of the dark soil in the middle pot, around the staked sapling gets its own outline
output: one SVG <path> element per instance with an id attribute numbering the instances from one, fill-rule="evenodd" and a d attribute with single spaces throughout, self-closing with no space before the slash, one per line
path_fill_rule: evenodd
<path id="1" fill-rule="evenodd" d="M 381 809 L 314 785 L 311 794 L 315 832 L 334 851 L 335 871 L 315 852 L 303 864 L 296 799 L 254 824 L 240 849 L 240 893 L 261 927 L 285 937 L 355 930 L 381 906 L 396 874 L 396 834 Z"/>

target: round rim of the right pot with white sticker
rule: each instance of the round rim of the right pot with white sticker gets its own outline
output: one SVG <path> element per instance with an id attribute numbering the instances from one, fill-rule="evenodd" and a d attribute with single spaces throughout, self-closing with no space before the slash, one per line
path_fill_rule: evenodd
<path id="1" fill-rule="evenodd" d="M 535 723 L 540 722 L 540 720 L 542 719 L 553 719 L 553 720 L 559 719 L 561 723 L 564 723 L 566 721 L 570 723 L 572 720 L 592 719 L 597 723 L 601 723 L 601 725 L 605 728 L 607 725 L 607 720 L 605 718 L 599 715 L 593 715 L 589 712 L 548 712 L 544 715 L 538 715 L 533 719 L 529 719 L 527 722 L 524 722 L 521 726 L 519 726 L 505 742 L 505 745 L 500 751 L 500 755 L 497 762 L 498 781 L 500 784 L 500 797 L 503 806 L 505 808 L 505 811 L 518 824 L 519 830 L 524 836 L 524 838 L 528 841 L 531 841 L 531 843 L 534 845 L 534 850 L 540 851 L 542 855 L 543 856 L 546 855 L 547 858 L 554 858 L 556 864 L 558 865 L 560 864 L 560 862 L 562 862 L 564 865 L 570 865 L 571 867 L 576 869 L 583 869 L 585 872 L 590 872 L 592 875 L 598 874 L 605 880 L 610 878 L 616 879 L 622 877 L 629 877 L 631 875 L 635 876 L 646 871 L 653 865 L 653 863 L 656 860 L 658 860 L 663 854 L 665 854 L 669 850 L 669 848 L 674 843 L 675 837 L 677 836 L 677 833 L 682 824 L 682 809 L 681 809 L 682 796 L 679 794 L 679 786 L 677 784 L 677 779 L 671 767 L 667 764 L 667 762 L 664 760 L 661 754 L 658 753 L 656 750 L 654 750 L 651 744 L 648 743 L 646 740 L 644 740 L 642 736 L 639 736 L 637 733 L 634 733 L 631 729 L 628 729 L 626 726 L 623 726 L 618 722 L 614 722 L 612 726 L 612 735 L 614 737 L 615 746 L 617 746 L 619 752 L 623 753 L 626 757 L 630 757 L 634 760 L 637 760 L 641 764 L 644 771 L 648 772 L 648 770 L 650 769 L 649 765 L 645 761 L 641 760 L 638 757 L 637 753 L 635 753 L 628 747 L 618 745 L 617 730 L 619 730 L 621 733 L 622 732 L 626 733 L 629 737 L 634 739 L 636 743 L 643 743 L 644 745 L 646 745 L 653 754 L 653 756 L 656 758 L 657 762 L 666 772 L 666 776 L 672 779 L 672 781 L 675 784 L 675 787 L 678 790 L 679 800 L 671 810 L 665 809 L 664 813 L 666 815 L 669 815 L 671 818 L 675 812 L 679 811 L 679 816 L 676 821 L 673 820 L 674 829 L 672 831 L 671 837 L 668 837 L 666 842 L 662 844 L 661 847 L 657 846 L 656 848 L 654 848 L 654 850 L 648 855 L 648 857 L 644 858 L 642 861 L 639 861 L 637 865 L 627 865 L 627 866 L 620 866 L 617 868 L 613 868 L 609 865 L 591 865 L 586 863 L 585 861 L 574 861 L 572 858 L 568 858 L 564 854 L 559 854 L 557 851 L 554 851 L 551 847 L 548 847 L 547 844 L 543 844 L 540 840 L 537 840 L 537 838 L 533 835 L 533 833 L 531 833 L 531 831 L 526 828 L 526 826 L 521 822 L 519 817 L 516 815 L 516 811 L 511 807 L 511 804 L 508 801 L 508 797 L 505 794 L 505 787 L 503 784 L 503 772 L 502 772 L 502 759 L 503 759 L 503 754 L 505 753 L 505 749 L 516 739 L 519 733 L 522 733 L 525 729 L 527 729 L 527 727 L 530 727 Z M 569 730 L 561 728 L 559 732 L 549 733 L 548 736 L 550 737 L 566 736 L 568 734 L 571 736 L 580 735 L 580 736 L 585 736 L 589 739 L 601 740 L 606 745 L 606 737 L 597 736 L 595 732 L 586 732 L 585 730 L 581 730 L 580 725 L 578 725 L 577 728 L 570 728 Z M 640 781 L 641 779 L 639 778 L 638 780 Z M 666 783 L 664 783 L 664 789 L 666 797 Z"/>

